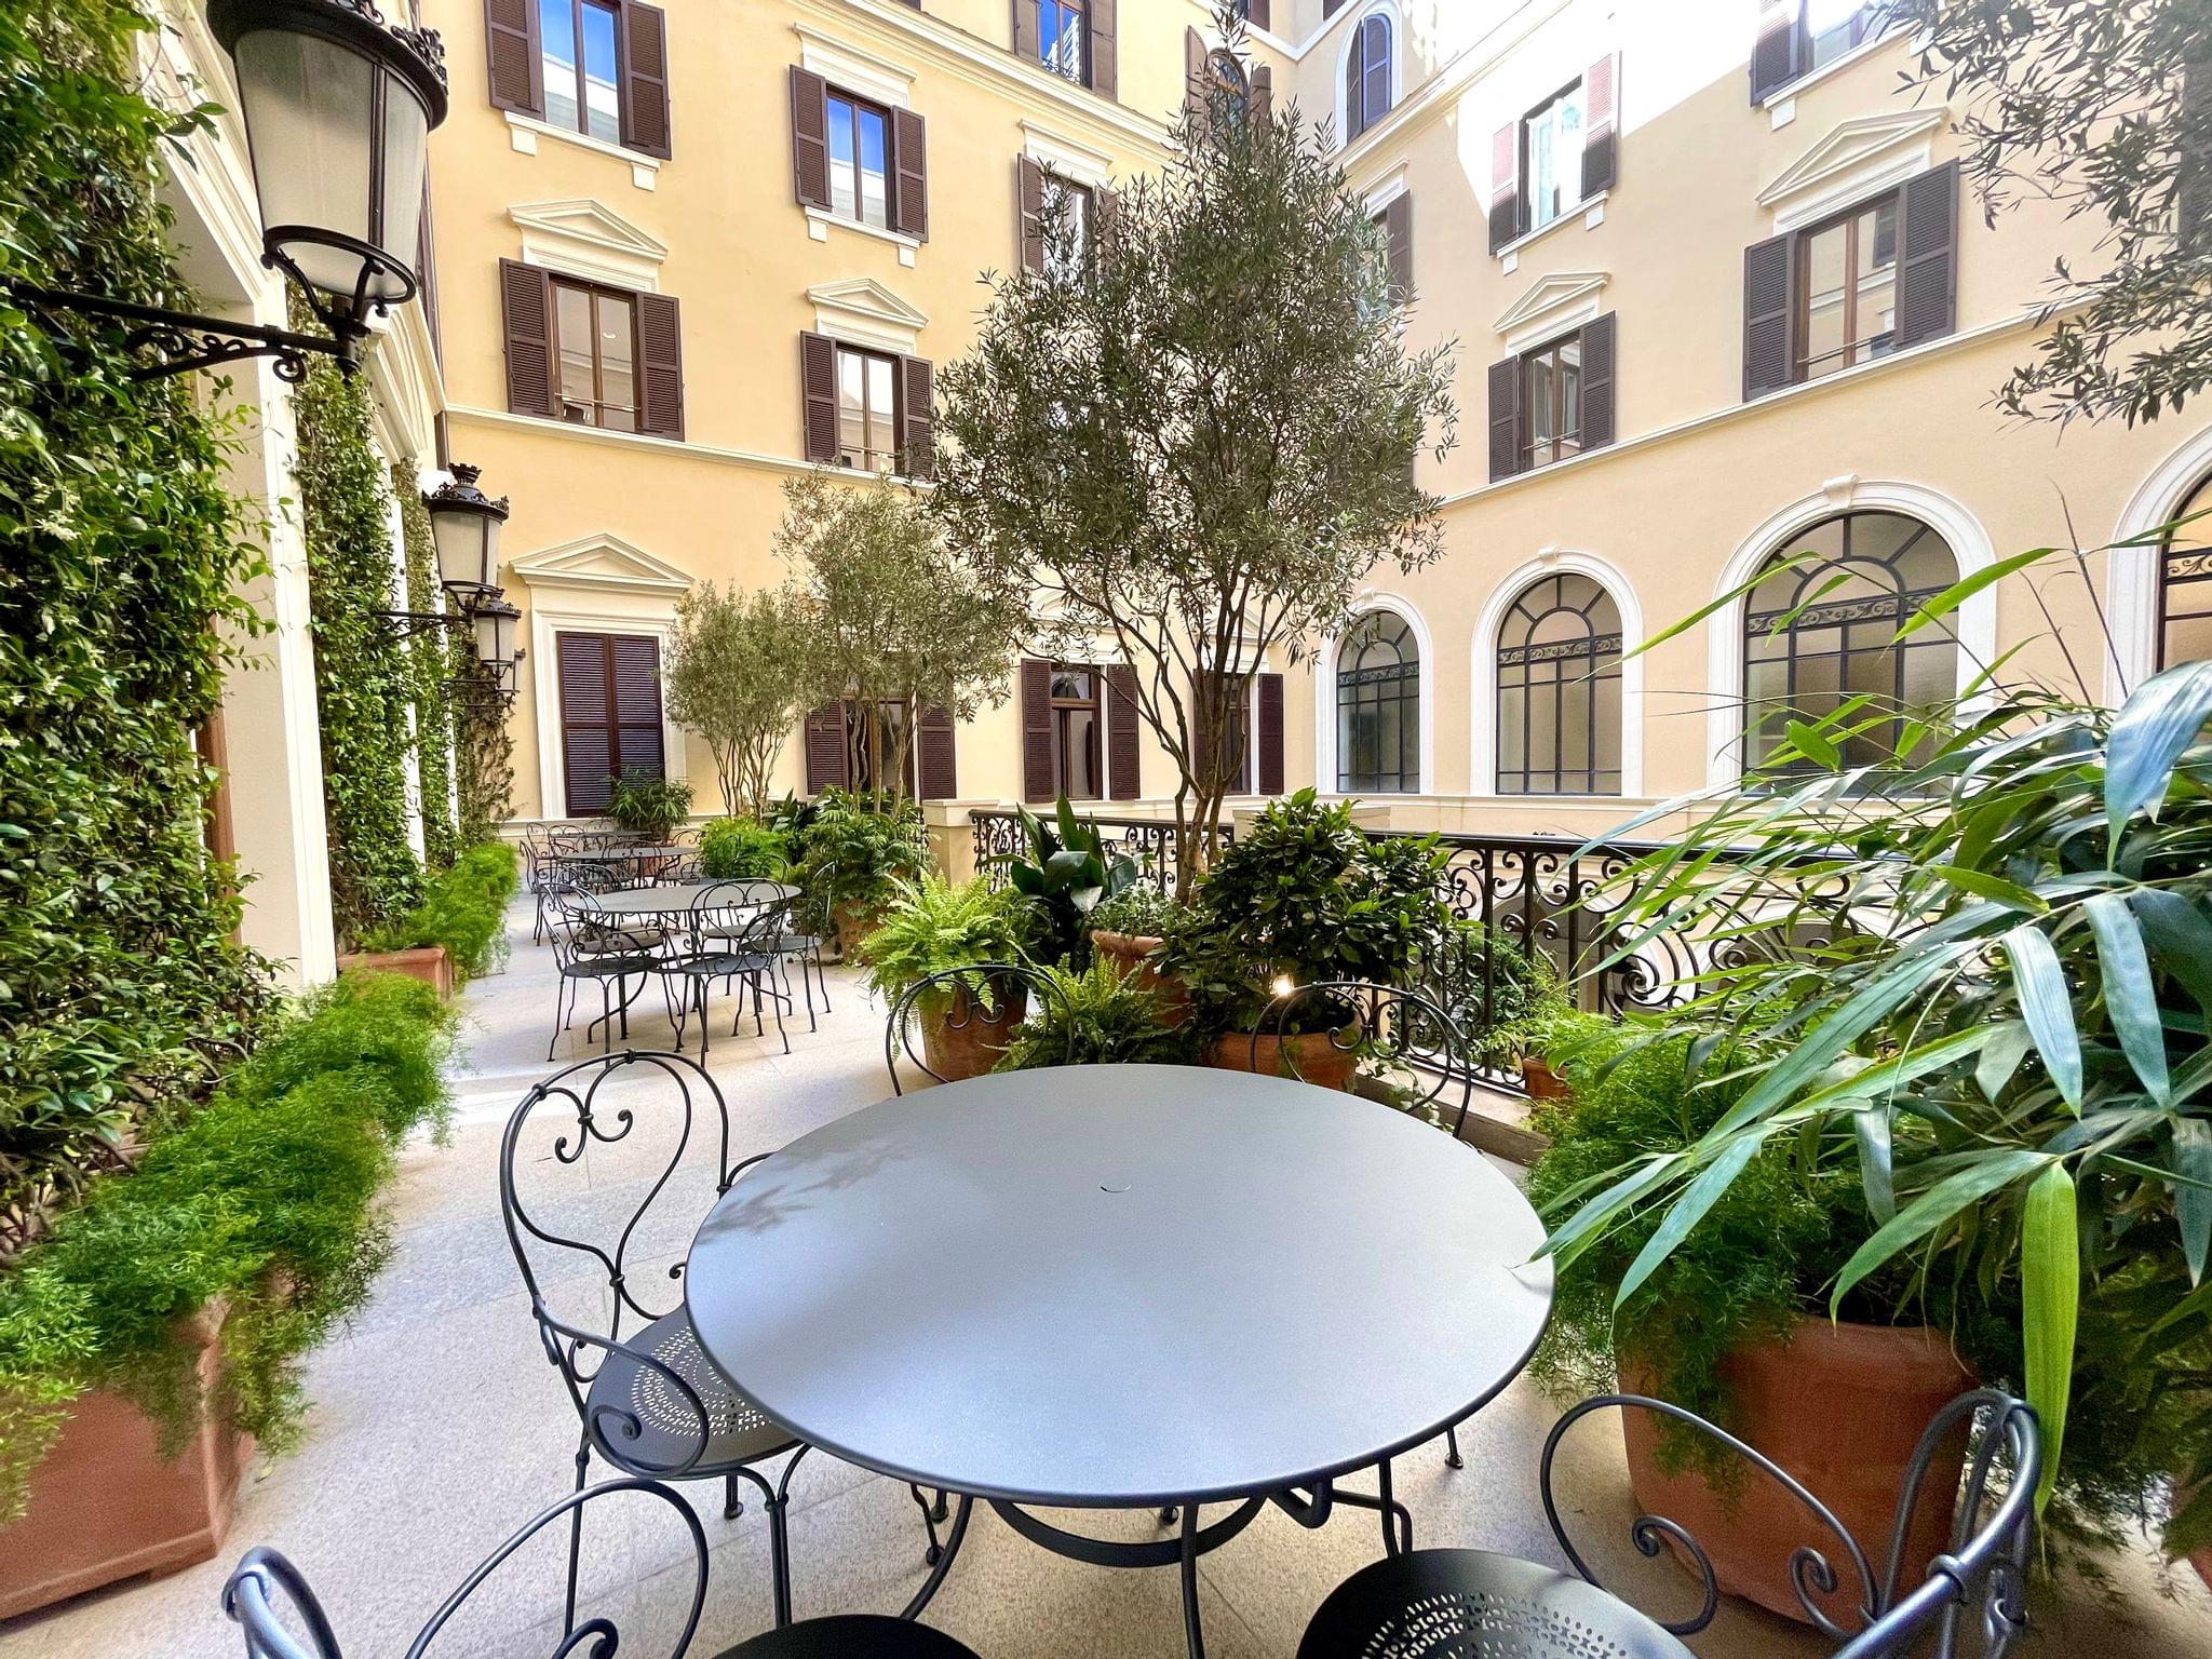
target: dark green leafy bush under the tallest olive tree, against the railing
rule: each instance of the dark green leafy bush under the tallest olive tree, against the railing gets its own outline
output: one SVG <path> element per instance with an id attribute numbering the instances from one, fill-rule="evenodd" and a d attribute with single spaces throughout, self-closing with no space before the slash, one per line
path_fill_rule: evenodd
<path id="1" fill-rule="evenodd" d="M 1161 971 L 1183 978 L 1201 1024 L 1221 1031 L 1250 1031 L 1281 980 L 1420 984 L 1453 927 L 1442 867 L 1433 836 L 1369 838 L 1349 803 L 1298 790 L 1206 874 Z"/>

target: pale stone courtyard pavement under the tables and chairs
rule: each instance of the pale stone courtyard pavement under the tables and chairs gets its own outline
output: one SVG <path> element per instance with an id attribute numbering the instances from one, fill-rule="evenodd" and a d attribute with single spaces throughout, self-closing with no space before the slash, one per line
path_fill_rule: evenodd
<path id="1" fill-rule="evenodd" d="M 549 1066 L 553 958 L 531 945 L 529 911 L 511 918 L 504 973 L 469 987 L 467 1040 L 453 1066 L 458 1104 L 447 1144 L 407 1148 L 389 1197 L 394 1256 L 369 1307 L 307 1367 L 314 1409 L 305 1444 L 263 1458 L 248 1475 L 221 1555 L 161 1579 L 122 1584 L 62 1608 L 0 1624 L 0 1659 L 201 1659 L 237 1655 L 217 1593 L 252 1544 L 285 1551 L 321 1593 L 349 1659 L 396 1659 L 469 1568 L 529 1515 L 568 1491 L 577 1422 L 546 1365 L 500 1223 L 498 1150 L 507 1113 Z M 818 1031 L 794 1022 L 792 1053 L 774 1033 L 714 1033 L 712 1073 L 741 1150 L 783 1146 L 887 1093 L 883 1011 L 854 975 L 832 971 L 836 1011 Z M 633 1018 L 633 1046 L 670 1040 L 657 995 Z M 595 1002 L 595 998 L 591 998 Z M 750 1026 L 750 1020 L 748 1020 Z M 582 1057 L 582 1035 L 557 1060 Z M 546 1148 L 526 1148 L 551 1168 Z M 624 1214 L 653 1166 L 639 1148 L 591 1148 L 582 1181 L 593 1210 Z M 703 1199 L 697 1206 L 703 1212 Z M 648 1245 L 681 1259 L 688 1237 Z M 1407 1252 L 1407 1272 L 1449 1263 Z M 591 1292 L 564 1285 L 555 1296 Z M 1398 1462 L 1398 1493 L 1418 1544 L 1467 1544 L 1559 1562 L 1537 1502 L 1537 1455 L 1557 1409 L 1526 1378 L 1460 1429 L 1462 1471 L 1442 1447 Z M 604 1469 L 595 1467 L 595 1475 Z M 1562 1449 L 1562 1506 L 1617 1588 L 1657 1613 L 1688 1610 L 1688 1579 L 1626 1546 L 1632 1509 L 1619 1431 L 1586 1420 Z M 714 1484 L 686 1489 L 710 1544 L 706 1613 L 692 1655 L 712 1659 L 770 1624 L 768 1542 L 759 1504 L 726 1522 Z M 624 1630 L 624 1659 L 668 1652 L 670 1608 L 688 1606 L 677 1524 L 650 1500 L 591 1524 L 586 1613 Z M 1208 1511 L 1212 1515 L 1214 1511 Z M 1157 1537 L 1148 1515 L 1079 1520 L 1115 1537 Z M 557 1528 L 555 1528 L 557 1531 Z M 538 1655 L 557 1646 L 560 1537 L 540 1537 L 434 1644 L 438 1655 Z M 1316 1533 L 1267 1511 L 1201 1564 L 1208 1652 L 1292 1659 L 1321 1599 L 1380 1555 L 1371 1513 L 1338 1511 Z M 896 1610 L 922 1579 L 920 1517 L 907 1489 L 812 1453 L 792 1484 L 792 1559 L 801 1615 Z M 2106 1564 L 2112 1590 L 2068 1590 L 2044 1610 L 2028 1655 L 2159 1655 L 2212 1659 L 2212 1595 L 2188 1573 L 2159 1573 L 2148 1553 Z M 984 1659 L 1175 1659 L 1183 1652 L 1172 1571 L 1113 1571 L 1064 1562 L 975 1511 L 967 1546 L 927 1615 Z M 657 1639 L 659 1637 L 659 1639 Z M 1712 1659 L 1796 1659 L 1827 1652 L 1798 1626 L 1728 1604 L 1692 1639 Z"/>

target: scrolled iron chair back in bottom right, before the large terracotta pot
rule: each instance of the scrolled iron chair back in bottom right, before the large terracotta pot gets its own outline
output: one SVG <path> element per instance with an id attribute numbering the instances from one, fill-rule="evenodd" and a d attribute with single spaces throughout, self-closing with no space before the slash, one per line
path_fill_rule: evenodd
<path id="1" fill-rule="evenodd" d="M 1597 1584 L 1582 1551 L 1568 1537 L 1553 1495 L 1553 1458 L 1566 1431 L 1593 1411 L 1652 1411 L 1717 1440 L 1741 1458 L 1754 1478 L 1776 1482 L 1805 1506 L 1816 1533 L 1790 1557 L 1790 1579 L 1805 1617 L 1843 1646 L 1834 1659 L 2002 1659 L 2026 1628 L 2028 1555 L 2035 1542 L 2035 1484 L 2042 1478 L 2042 1436 L 2035 1411 L 1997 1389 L 1969 1389 L 1929 1420 L 1905 1471 L 1887 1551 L 1880 1557 L 1820 1502 L 1801 1480 L 1765 1453 L 1694 1411 L 1641 1394 L 1599 1394 L 1566 1411 L 1544 1440 L 1540 1482 L 1544 1517 L 1573 1568 Z M 1929 1469 L 1947 1447 L 1969 1433 L 1964 1480 L 1951 1520 L 1949 1546 L 1936 1559 L 1907 1559 L 1920 1506 L 1938 1498 Z M 1703 1630 L 1719 1610 L 1719 1579 L 1712 1559 L 1686 1526 L 1666 1515 L 1639 1515 L 1630 1526 L 1637 1551 L 1657 1557 L 1668 1544 L 1697 1571 L 1703 1599 L 1686 1619 L 1661 1621 L 1677 1637 Z M 1880 1571 L 1876 1571 L 1880 1559 Z M 1840 1568 L 1838 1568 L 1840 1562 Z M 1913 1584 L 1905 1582 L 1918 1571 Z M 1854 1624 L 1829 1608 L 1843 1593 Z M 1973 1646 L 1960 1646 L 1971 1635 Z"/>

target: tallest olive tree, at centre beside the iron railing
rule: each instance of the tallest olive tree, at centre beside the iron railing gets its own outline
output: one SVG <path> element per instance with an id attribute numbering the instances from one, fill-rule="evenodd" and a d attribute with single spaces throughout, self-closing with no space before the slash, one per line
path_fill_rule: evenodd
<path id="1" fill-rule="evenodd" d="M 1228 24 L 1237 44 L 1239 24 Z M 1440 551 L 1413 484 L 1453 436 L 1451 347 L 1409 349 L 1367 206 L 1296 108 L 1208 82 L 1172 164 L 1093 246 L 987 276 L 940 374 L 931 513 L 993 588 L 1037 591 L 1037 644 L 1135 670 L 1179 770 L 1179 883 L 1212 856 L 1265 653 L 1340 630 L 1383 564 Z"/>

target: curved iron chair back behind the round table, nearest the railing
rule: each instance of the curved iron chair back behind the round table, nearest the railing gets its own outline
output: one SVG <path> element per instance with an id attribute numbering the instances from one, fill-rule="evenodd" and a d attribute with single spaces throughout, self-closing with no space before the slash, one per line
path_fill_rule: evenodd
<path id="1" fill-rule="evenodd" d="M 1290 1077 L 1305 1082 L 1298 1053 L 1283 1042 L 1327 1035 L 1329 1048 L 1376 1066 L 1389 1079 L 1391 1102 L 1433 1119 L 1451 1135 L 1467 1124 L 1473 1099 L 1473 1048 L 1458 1020 L 1420 991 L 1367 980 L 1318 980 L 1267 1002 L 1252 1031 L 1252 1071 L 1263 1051 Z"/>

